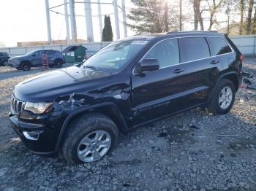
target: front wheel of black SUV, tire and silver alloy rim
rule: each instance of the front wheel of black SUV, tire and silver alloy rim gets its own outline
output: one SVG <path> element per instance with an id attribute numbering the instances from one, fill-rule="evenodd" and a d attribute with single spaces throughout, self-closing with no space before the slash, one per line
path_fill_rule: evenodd
<path id="1" fill-rule="evenodd" d="M 97 139 L 100 137 L 97 135 L 102 135 L 103 132 L 105 135 Z M 92 143 L 94 139 L 100 141 Z M 109 117 L 97 113 L 86 114 L 69 125 L 61 151 L 68 163 L 90 163 L 107 155 L 113 149 L 117 139 L 118 129 Z M 103 144 L 108 146 L 102 147 Z"/>

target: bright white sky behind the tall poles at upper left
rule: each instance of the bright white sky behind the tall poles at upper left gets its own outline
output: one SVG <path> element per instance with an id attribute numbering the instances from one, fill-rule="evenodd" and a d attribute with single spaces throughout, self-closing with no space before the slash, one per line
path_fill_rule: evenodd
<path id="1" fill-rule="evenodd" d="M 83 1 L 83 0 L 78 0 Z M 96 2 L 97 0 L 91 0 Z M 112 2 L 112 0 L 102 0 L 102 2 Z M 125 0 L 127 12 L 131 7 L 130 0 Z M 49 0 L 50 7 L 64 3 L 64 0 Z M 118 0 L 121 7 L 121 0 Z M 16 46 L 17 42 L 45 41 L 48 40 L 45 0 L 0 0 L 0 42 L 4 42 L 7 47 Z M 91 5 L 94 27 L 94 41 L 100 41 L 99 21 L 97 12 L 97 4 Z M 53 9 L 56 12 L 64 13 L 64 6 Z M 121 9 L 119 9 L 121 11 Z M 75 4 L 75 14 L 84 15 L 84 5 Z M 114 39 L 116 29 L 113 17 L 113 6 L 110 4 L 102 4 L 102 24 L 104 23 L 104 15 L 110 15 Z M 122 15 L 119 13 L 120 34 L 124 37 Z M 66 39 L 66 26 L 64 15 L 50 12 L 50 23 L 52 31 L 52 39 Z M 83 16 L 76 17 L 78 39 L 86 39 L 86 18 Z M 70 23 L 69 23 L 70 26 Z M 134 32 L 128 28 L 128 36 Z"/>

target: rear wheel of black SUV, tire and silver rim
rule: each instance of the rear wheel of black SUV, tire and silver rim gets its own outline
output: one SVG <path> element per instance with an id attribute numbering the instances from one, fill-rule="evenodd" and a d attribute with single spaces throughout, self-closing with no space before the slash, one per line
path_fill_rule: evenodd
<path id="1" fill-rule="evenodd" d="M 234 104 L 236 88 L 229 79 L 221 79 L 210 96 L 208 110 L 213 114 L 227 114 Z"/>

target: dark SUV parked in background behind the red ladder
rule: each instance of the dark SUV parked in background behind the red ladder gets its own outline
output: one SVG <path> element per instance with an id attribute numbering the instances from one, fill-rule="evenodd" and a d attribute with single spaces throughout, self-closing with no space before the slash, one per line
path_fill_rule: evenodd
<path id="1" fill-rule="evenodd" d="M 33 50 L 26 55 L 15 56 L 9 59 L 8 64 L 18 70 L 30 70 L 31 67 L 42 66 L 42 55 L 46 54 L 50 67 L 61 67 L 65 63 L 64 55 L 59 50 Z"/>

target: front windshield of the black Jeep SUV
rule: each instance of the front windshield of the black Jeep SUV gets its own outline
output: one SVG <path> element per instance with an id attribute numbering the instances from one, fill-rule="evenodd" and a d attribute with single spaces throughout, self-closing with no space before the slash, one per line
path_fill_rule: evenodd
<path id="1" fill-rule="evenodd" d="M 83 66 L 117 71 L 125 66 L 130 59 L 134 58 L 147 42 L 146 40 L 135 39 L 112 42 L 91 56 L 89 60 L 83 63 Z"/>

